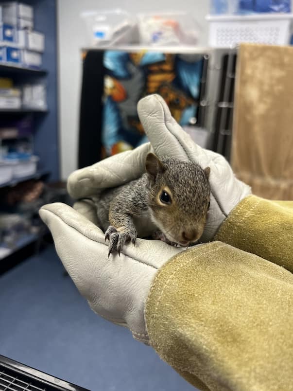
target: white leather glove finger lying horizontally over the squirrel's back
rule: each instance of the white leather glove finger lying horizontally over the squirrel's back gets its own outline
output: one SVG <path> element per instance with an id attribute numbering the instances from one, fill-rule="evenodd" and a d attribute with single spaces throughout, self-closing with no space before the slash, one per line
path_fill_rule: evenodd
<path id="1" fill-rule="evenodd" d="M 145 143 L 132 151 L 121 152 L 74 171 L 67 182 L 69 195 L 75 199 L 94 196 L 98 189 L 119 186 L 140 177 L 146 155 L 151 151 L 150 143 Z"/>

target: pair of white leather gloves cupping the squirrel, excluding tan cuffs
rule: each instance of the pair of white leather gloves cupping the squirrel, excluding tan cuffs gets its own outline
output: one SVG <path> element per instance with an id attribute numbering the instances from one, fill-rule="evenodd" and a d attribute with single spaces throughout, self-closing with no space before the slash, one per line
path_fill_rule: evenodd
<path id="1" fill-rule="evenodd" d="M 138 103 L 138 114 L 150 140 L 133 151 L 123 152 L 69 176 L 70 196 L 80 201 L 74 209 L 62 203 L 45 205 L 40 216 L 52 232 L 57 253 L 90 307 L 104 318 L 128 327 L 135 338 L 148 343 L 144 306 L 157 270 L 183 248 L 157 240 L 137 239 L 108 258 L 104 233 L 97 227 L 92 201 L 99 189 L 118 186 L 140 177 L 149 152 L 193 160 L 210 167 L 210 211 L 203 241 L 213 238 L 228 213 L 250 194 L 249 186 L 234 177 L 221 155 L 194 142 L 172 118 L 158 95 Z"/>

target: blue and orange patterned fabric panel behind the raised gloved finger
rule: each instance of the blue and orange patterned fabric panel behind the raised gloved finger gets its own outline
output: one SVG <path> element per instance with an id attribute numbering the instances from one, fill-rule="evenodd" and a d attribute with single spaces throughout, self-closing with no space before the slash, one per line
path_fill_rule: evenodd
<path id="1" fill-rule="evenodd" d="M 146 95 L 161 95 L 179 124 L 194 123 L 202 55 L 106 51 L 103 65 L 103 157 L 147 142 L 137 114 L 137 103 Z"/>

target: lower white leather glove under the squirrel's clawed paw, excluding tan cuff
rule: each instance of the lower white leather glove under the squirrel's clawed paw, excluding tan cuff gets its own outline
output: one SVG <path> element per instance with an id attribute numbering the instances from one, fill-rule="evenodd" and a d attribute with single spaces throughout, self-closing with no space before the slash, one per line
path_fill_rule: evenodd
<path id="1" fill-rule="evenodd" d="M 80 201 L 74 208 L 53 203 L 39 212 L 64 267 L 94 312 L 128 327 L 134 338 L 148 344 L 144 305 L 150 286 L 157 270 L 184 249 L 137 239 L 136 247 L 125 245 L 120 256 L 114 253 L 109 259 L 94 204 Z"/>

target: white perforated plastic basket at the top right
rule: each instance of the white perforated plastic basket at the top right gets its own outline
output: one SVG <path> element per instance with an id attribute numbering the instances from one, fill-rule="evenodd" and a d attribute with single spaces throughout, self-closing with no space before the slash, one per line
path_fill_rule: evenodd
<path id="1" fill-rule="evenodd" d="M 241 42 L 287 45 L 293 14 L 208 15 L 208 44 L 231 48 Z"/>

